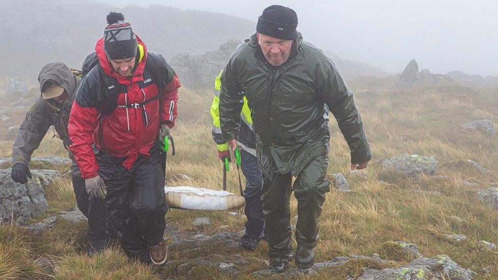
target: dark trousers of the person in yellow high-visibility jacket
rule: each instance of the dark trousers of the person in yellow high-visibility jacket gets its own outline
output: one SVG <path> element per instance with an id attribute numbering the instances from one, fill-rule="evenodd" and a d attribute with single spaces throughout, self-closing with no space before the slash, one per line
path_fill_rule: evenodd
<path id="1" fill-rule="evenodd" d="M 245 236 L 260 239 L 264 237 L 264 215 L 261 202 L 263 179 L 256 157 L 240 150 L 242 173 L 245 176 Z"/>

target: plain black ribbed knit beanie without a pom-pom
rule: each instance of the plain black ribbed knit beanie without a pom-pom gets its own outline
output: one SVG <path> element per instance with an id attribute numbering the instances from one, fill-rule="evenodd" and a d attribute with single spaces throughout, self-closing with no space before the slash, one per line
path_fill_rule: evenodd
<path id="1" fill-rule="evenodd" d="M 297 14 L 291 8 L 272 5 L 258 18 L 256 31 L 283 40 L 297 38 Z"/>

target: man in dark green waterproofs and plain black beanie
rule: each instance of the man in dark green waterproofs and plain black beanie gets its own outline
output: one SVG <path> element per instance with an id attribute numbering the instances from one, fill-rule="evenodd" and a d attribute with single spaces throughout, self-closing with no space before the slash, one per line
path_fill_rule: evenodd
<path id="1" fill-rule="evenodd" d="M 351 149 L 351 168 L 366 168 L 372 157 L 353 94 L 333 62 L 303 41 L 296 27 L 292 9 L 266 8 L 257 33 L 237 47 L 223 71 L 219 100 L 221 132 L 232 150 L 237 145 L 240 100 L 245 96 L 250 103 L 263 173 L 269 267 L 277 272 L 292 260 L 292 190 L 298 202 L 295 265 L 307 269 L 314 262 L 318 221 L 330 190 L 328 111 Z"/>

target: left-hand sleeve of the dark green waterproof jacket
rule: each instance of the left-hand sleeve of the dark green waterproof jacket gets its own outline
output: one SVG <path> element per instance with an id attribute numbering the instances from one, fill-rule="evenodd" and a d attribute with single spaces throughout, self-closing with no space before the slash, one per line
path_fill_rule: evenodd
<path id="1" fill-rule="evenodd" d="M 227 141 L 238 138 L 240 112 L 244 103 L 243 91 L 237 79 L 236 54 L 232 55 L 221 74 L 221 91 L 219 95 L 219 120 L 221 134 Z"/>

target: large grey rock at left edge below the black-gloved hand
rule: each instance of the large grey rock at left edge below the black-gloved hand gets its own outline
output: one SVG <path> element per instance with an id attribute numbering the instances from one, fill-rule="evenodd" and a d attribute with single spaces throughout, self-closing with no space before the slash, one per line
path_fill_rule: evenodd
<path id="1" fill-rule="evenodd" d="M 2 222 L 14 220 L 24 224 L 30 218 L 48 210 L 43 188 L 52 179 L 60 176 L 55 170 L 31 170 L 32 179 L 26 184 L 14 183 L 10 177 L 11 169 L 0 170 L 0 218 Z"/>

